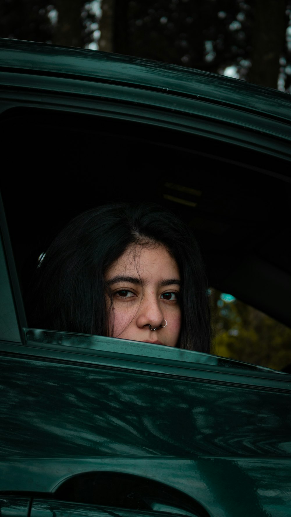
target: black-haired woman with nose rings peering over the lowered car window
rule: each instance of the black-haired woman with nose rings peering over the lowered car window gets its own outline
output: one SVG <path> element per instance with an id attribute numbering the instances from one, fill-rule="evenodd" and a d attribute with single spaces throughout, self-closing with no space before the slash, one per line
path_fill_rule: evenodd
<path id="1" fill-rule="evenodd" d="M 152 204 L 72 220 L 37 269 L 34 327 L 209 352 L 210 311 L 190 229 Z"/>

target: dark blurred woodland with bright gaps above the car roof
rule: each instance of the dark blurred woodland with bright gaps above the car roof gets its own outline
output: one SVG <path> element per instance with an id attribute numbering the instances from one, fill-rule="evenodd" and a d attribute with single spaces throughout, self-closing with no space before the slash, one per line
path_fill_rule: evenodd
<path id="1" fill-rule="evenodd" d="M 291 92 L 291 0 L 0 0 L 0 36 L 90 49 L 100 38 L 102 50 Z"/>

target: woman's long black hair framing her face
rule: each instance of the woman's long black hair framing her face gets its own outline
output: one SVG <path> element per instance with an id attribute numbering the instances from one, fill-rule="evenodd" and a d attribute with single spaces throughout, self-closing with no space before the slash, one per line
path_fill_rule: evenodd
<path id="1" fill-rule="evenodd" d="M 181 277 L 177 346 L 209 352 L 208 286 L 189 227 L 158 205 L 113 204 L 84 212 L 52 242 L 36 272 L 30 325 L 110 336 L 104 273 L 132 244 L 162 244 Z"/>

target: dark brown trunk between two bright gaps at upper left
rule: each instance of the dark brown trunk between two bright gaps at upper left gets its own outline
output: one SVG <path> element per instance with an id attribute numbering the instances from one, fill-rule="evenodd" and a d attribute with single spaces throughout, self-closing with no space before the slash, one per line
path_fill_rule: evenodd
<path id="1" fill-rule="evenodd" d="M 52 42 L 66 47 L 83 47 L 82 41 L 82 0 L 55 0 L 58 21 Z"/>

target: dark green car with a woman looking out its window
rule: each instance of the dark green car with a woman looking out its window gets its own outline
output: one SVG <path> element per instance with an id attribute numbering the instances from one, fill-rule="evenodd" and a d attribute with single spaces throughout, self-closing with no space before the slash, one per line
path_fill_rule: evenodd
<path id="1" fill-rule="evenodd" d="M 30 328 L 22 293 L 76 214 L 147 200 L 193 228 L 210 285 L 290 326 L 290 97 L 0 43 L 1 515 L 289 517 L 290 374 Z"/>

